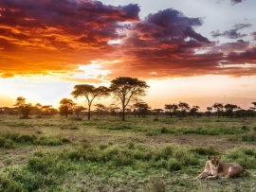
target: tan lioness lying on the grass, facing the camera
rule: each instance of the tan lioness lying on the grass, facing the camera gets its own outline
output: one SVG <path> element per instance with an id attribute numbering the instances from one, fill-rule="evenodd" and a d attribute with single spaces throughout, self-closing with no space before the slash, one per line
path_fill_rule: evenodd
<path id="1" fill-rule="evenodd" d="M 207 156 L 208 161 L 206 163 L 204 171 L 197 176 L 197 178 L 206 178 L 207 180 L 214 180 L 217 178 L 229 179 L 233 176 L 249 174 L 243 166 L 235 163 L 223 163 L 220 162 L 221 157 Z"/>

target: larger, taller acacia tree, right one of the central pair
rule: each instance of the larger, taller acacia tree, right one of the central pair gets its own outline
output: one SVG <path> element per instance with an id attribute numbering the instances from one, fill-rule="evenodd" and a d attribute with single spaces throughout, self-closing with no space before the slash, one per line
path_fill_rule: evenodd
<path id="1" fill-rule="evenodd" d="M 137 100 L 138 96 L 145 96 L 147 88 L 149 88 L 147 83 L 139 79 L 119 77 L 111 81 L 110 90 L 114 97 L 120 100 L 123 121 L 125 121 L 124 115 L 127 105 L 131 101 Z"/>

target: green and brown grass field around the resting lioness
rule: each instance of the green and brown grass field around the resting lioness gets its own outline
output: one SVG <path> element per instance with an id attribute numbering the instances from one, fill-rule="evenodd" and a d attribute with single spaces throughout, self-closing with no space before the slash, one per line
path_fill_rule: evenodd
<path id="1" fill-rule="evenodd" d="M 0 191 L 256 191 L 195 179 L 207 154 L 256 175 L 256 118 L 0 116 Z"/>

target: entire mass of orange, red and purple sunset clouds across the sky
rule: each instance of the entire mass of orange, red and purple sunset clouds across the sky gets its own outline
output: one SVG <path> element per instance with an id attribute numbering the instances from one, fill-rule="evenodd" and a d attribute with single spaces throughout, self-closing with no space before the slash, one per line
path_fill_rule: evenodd
<path id="1" fill-rule="evenodd" d="M 82 80 L 74 74 L 81 63 L 93 61 L 111 72 L 101 81 L 256 73 L 255 45 L 244 41 L 242 32 L 251 25 L 212 31 L 212 37 L 232 39 L 217 44 L 196 31 L 202 18 L 164 9 L 140 20 L 138 12 L 137 4 L 114 7 L 92 0 L 2 0 L 0 76 L 61 74 Z M 255 32 L 251 35 L 255 39 Z"/>

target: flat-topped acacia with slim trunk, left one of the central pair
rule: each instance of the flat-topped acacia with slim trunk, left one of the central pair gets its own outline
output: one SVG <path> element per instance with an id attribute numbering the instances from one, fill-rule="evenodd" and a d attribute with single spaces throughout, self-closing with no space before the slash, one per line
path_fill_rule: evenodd
<path id="1" fill-rule="evenodd" d="M 89 84 L 80 84 L 74 86 L 74 91 L 71 93 L 72 96 L 75 98 L 79 96 L 85 96 L 86 102 L 88 103 L 88 120 L 91 118 L 91 106 L 93 103 L 93 100 L 96 97 L 101 96 L 108 96 L 109 95 L 109 89 L 104 86 L 100 87 L 94 87 L 93 85 Z"/>

